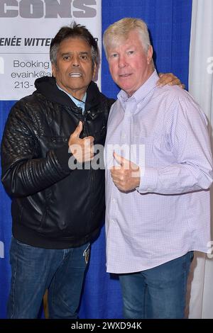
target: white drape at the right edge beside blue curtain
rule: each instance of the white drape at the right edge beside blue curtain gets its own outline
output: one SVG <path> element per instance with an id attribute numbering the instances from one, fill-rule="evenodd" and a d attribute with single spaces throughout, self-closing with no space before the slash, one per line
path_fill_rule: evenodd
<path id="1" fill-rule="evenodd" d="M 189 91 L 209 119 L 209 132 L 213 137 L 213 2 L 192 1 L 192 25 L 190 40 Z M 212 143 L 213 146 L 213 143 Z M 213 186 L 211 188 L 213 212 Z M 213 239 L 213 214 L 212 214 Z M 190 275 L 190 315 L 192 319 L 213 319 L 213 248 L 209 254 L 197 253 Z M 193 278 L 193 280 L 192 280 Z"/>

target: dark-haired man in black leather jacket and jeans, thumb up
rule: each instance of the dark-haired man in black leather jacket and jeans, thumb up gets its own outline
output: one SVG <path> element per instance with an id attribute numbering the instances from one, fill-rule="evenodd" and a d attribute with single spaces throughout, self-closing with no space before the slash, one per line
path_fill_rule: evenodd
<path id="1" fill-rule="evenodd" d="M 61 28 L 50 46 L 53 77 L 37 79 L 36 91 L 9 114 L 1 144 L 13 218 L 9 318 L 36 318 L 47 289 L 50 318 L 77 318 L 89 245 L 104 214 L 104 170 L 90 163 L 114 102 L 92 81 L 97 57 L 84 26 Z M 177 83 L 173 76 L 165 83 L 171 80 Z"/>

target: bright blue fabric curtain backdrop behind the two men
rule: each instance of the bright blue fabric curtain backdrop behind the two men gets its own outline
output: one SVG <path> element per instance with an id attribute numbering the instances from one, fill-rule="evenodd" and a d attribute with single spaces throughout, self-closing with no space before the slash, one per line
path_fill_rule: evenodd
<path id="1" fill-rule="evenodd" d="M 192 0 L 102 0 L 102 30 L 126 16 L 143 18 L 151 33 L 155 64 L 160 72 L 173 72 L 187 86 Z M 2 79 L 0 77 L 1 84 Z M 1 88 L 0 88 L 1 89 Z M 119 89 L 111 80 L 102 55 L 102 91 L 116 98 Z M 14 101 L 0 101 L 0 136 Z M 0 318 L 6 316 L 9 293 L 9 244 L 11 239 L 10 199 L 0 185 Z M 81 318 L 121 318 L 119 281 L 106 273 L 104 226 L 94 244 L 80 305 Z"/>

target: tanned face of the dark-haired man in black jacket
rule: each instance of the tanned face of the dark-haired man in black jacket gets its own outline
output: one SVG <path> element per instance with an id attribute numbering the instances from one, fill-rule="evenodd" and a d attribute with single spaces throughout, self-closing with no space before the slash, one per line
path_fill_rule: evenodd
<path id="1" fill-rule="evenodd" d="M 57 64 L 53 64 L 52 70 L 60 88 L 81 100 L 96 67 L 87 42 L 82 38 L 67 38 L 58 47 Z"/>

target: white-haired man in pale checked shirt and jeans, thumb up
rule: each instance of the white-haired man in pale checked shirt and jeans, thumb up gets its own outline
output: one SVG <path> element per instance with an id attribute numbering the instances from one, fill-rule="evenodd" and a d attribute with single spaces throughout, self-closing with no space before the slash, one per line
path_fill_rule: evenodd
<path id="1" fill-rule="evenodd" d="M 121 88 L 108 120 L 107 271 L 118 273 L 126 318 L 182 318 L 193 251 L 210 240 L 212 154 L 207 120 L 178 86 L 156 86 L 146 23 L 107 28 Z"/>

